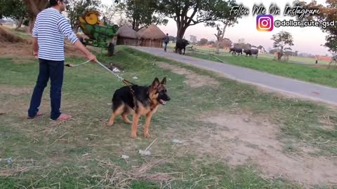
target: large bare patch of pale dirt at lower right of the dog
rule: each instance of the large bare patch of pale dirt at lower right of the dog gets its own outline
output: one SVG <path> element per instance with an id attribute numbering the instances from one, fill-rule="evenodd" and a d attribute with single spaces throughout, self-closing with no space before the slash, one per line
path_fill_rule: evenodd
<path id="1" fill-rule="evenodd" d="M 283 178 L 311 186 L 337 184 L 337 158 L 312 157 L 308 153 L 317 151 L 312 147 L 284 152 L 286 144 L 277 139 L 279 125 L 267 118 L 250 113 L 206 115 L 201 118 L 204 130 L 187 139 L 195 153 L 212 155 L 232 166 L 253 163 L 267 179 Z"/>

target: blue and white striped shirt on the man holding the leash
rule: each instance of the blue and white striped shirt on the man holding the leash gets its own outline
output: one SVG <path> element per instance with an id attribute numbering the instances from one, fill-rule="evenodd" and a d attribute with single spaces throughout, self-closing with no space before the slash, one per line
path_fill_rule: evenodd
<path id="1" fill-rule="evenodd" d="M 47 8 L 37 15 L 32 32 L 39 44 L 39 58 L 65 60 L 65 37 L 73 44 L 78 40 L 67 19 L 55 8 Z"/>

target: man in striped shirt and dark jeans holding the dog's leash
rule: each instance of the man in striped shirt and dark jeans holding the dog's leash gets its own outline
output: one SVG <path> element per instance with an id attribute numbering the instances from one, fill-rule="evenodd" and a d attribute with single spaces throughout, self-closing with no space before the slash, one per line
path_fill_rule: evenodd
<path id="1" fill-rule="evenodd" d="M 97 62 L 97 59 L 78 40 L 66 18 L 61 14 L 67 1 L 49 0 L 49 3 L 51 8 L 46 8 L 37 15 L 32 32 L 34 56 L 39 57 L 39 76 L 30 101 L 28 118 L 41 116 L 39 112 L 41 97 L 51 78 L 51 120 L 68 120 L 70 116 L 60 113 L 65 63 L 64 37 L 84 52 L 92 62 Z"/>

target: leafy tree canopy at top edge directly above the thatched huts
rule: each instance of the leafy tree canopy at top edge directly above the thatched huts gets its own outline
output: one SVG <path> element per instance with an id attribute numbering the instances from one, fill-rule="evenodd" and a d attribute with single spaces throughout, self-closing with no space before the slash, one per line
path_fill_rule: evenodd
<path id="1" fill-rule="evenodd" d="M 119 10 L 124 11 L 132 29 L 138 31 L 148 25 L 167 25 L 169 20 L 159 12 L 157 0 L 124 0 L 119 4 Z"/>

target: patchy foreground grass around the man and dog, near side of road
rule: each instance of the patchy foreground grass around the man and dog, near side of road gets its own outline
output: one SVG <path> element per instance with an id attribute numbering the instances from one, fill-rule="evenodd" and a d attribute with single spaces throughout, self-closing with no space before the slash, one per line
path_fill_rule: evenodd
<path id="1" fill-rule="evenodd" d="M 41 111 L 46 116 L 25 119 L 29 98 L 37 78 L 35 59 L 0 58 L 0 188 L 303 188 L 305 185 L 285 179 L 262 176 L 254 162 L 228 165 L 207 147 L 223 127 L 200 120 L 216 113 L 252 115 L 267 118 L 278 125 L 277 140 L 284 154 L 296 155 L 298 148 L 314 148 L 309 156 L 337 155 L 337 111 L 322 104 L 285 99 L 261 92 L 256 87 L 214 76 L 209 71 L 153 57 L 125 46 L 117 55 L 101 62 L 113 62 L 124 68 L 124 78 L 138 84 L 150 84 L 154 77 L 168 78 L 171 101 L 152 119 L 152 139 L 130 139 L 130 125 L 117 118 L 106 127 L 112 94 L 123 86 L 98 65 L 65 68 L 62 111 L 74 116 L 67 122 L 48 120 L 49 94 L 45 90 Z M 240 57 L 244 59 L 244 57 Z M 84 59 L 67 59 L 67 63 Z M 192 87 L 187 76 L 163 69 L 161 64 L 179 66 L 218 83 Z M 1 111 L 4 113 L 1 115 Z M 322 120 L 329 118 L 331 129 Z M 140 120 L 142 123 L 144 120 Z M 247 121 L 249 122 L 249 121 Z M 149 148 L 143 157 L 138 150 Z M 185 144 L 173 144 L 179 139 Z M 193 141 L 199 140 L 200 143 Z M 238 139 L 237 139 L 238 140 Z M 236 140 L 236 142 L 237 142 Z M 324 143 L 325 141 L 329 141 Z M 225 145 L 225 142 L 222 141 Z M 231 141 L 226 141 L 230 143 Z M 211 145 L 211 144 L 209 144 Z M 254 145 L 251 145 L 252 148 Z M 303 147 L 304 148 L 304 147 Z M 201 153 L 202 152 L 202 153 Z M 220 151 L 218 152 L 220 153 Z M 121 155 L 130 158 L 124 160 Z M 11 158 L 11 162 L 5 160 Z M 315 188 L 329 188 L 314 185 Z"/>

